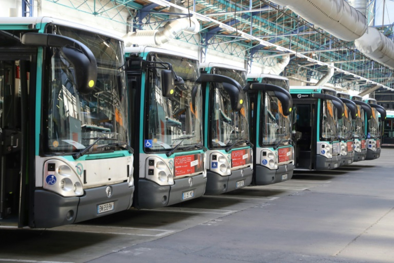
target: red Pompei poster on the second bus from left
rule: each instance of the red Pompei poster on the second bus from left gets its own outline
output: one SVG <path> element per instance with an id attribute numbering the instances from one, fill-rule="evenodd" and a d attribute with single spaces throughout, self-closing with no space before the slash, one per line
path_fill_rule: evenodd
<path id="1" fill-rule="evenodd" d="M 203 172 L 204 154 L 177 156 L 174 159 L 175 176 Z"/>

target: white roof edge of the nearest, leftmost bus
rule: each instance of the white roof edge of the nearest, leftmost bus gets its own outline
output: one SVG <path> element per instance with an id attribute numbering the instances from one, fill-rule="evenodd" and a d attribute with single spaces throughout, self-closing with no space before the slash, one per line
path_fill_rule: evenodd
<path id="1" fill-rule="evenodd" d="M 0 25 L 4 25 L 4 24 L 9 24 L 10 26 L 11 25 L 28 25 L 28 24 L 33 24 L 34 26 L 36 26 L 37 24 L 57 24 L 57 25 L 69 26 L 71 28 L 76 28 L 76 29 L 85 30 L 85 31 L 89 31 L 89 32 L 96 32 L 96 33 L 99 33 L 102 35 L 106 35 L 108 37 L 118 39 L 123 42 L 122 37 L 120 37 L 119 35 L 115 35 L 110 32 L 100 30 L 98 28 L 93 28 L 90 26 L 85 26 L 83 24 L 76 23 L 76 22 L 53 18 L 53 17 L 0 17 Z"/>

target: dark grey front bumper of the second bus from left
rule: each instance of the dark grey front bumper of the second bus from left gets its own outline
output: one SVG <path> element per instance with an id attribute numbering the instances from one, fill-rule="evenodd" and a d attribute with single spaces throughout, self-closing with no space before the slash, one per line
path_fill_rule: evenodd
<path id="1" fill-rule="evenodd" d="M 191 178 L 191 185 L 189 179 Z M 174 180 L 174 185 L 161 186 L 140 178 L 138 181 L 138 209 L 152 209 L 173 205 L 200 197 L 205 192 L 206 178 L 203 174 Z M 193 191 L 193 196 L 183 199 L 183 193 Z"/>

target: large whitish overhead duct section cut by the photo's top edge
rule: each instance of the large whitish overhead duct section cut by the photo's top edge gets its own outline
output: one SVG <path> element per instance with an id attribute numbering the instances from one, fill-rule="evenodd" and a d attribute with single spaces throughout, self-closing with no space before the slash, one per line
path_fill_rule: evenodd
<path id="1" fill-rule="evenodd" d="M 344 41 L 361 37 L 368 25 L 365 16 L 345 0 L 270 0 L 288 6 L 308 22 Z"/>

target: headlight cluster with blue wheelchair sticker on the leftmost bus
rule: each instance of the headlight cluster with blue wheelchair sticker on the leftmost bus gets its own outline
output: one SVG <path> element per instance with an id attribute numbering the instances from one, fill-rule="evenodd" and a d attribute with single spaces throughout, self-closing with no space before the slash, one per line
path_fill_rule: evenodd
<path id="1" fill-rule="evenodd" d="M 67 163 L 56 159 L 44 163 L 43 188 L 65 197 L 84 194 L 80 177 Z"/>

